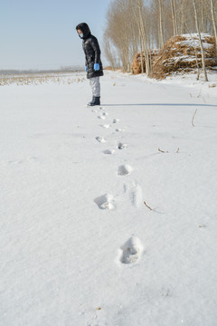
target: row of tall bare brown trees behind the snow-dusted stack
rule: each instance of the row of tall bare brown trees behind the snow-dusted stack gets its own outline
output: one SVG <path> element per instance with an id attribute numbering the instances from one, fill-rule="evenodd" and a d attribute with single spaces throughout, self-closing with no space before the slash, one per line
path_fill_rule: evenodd
<path id="1" fill-rule="evenodd" d="M 177 34 L 207 32 L 217 39 L 217 0 L 113 0 L 107 13 L 104 50 L 109 64 L 130 71 L 136 53 L 162 48 Z M 217 45 L 216 45 L 217 46 Z"/>

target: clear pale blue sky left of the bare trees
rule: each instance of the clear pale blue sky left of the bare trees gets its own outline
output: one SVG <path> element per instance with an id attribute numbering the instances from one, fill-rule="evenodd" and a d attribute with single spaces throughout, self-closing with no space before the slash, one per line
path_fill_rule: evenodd
<path id="1" fill-rule="evenodd" d="M 84 65 L 75 26 L 85 22 L 99 39 L 111 0 L 0 0 L 0 69 Z"/>

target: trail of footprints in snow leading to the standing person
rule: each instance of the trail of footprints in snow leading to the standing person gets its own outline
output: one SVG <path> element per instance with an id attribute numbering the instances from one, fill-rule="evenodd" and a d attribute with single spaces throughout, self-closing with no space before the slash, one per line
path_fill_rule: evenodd
<path id="1" fill-rule="evenodd" d="M 105 111 L 105 108 L 99 106 L 97 109 L 93 109 L 92 112 L 97 113 L 97 118 L 99 120 L 106 120 L 109 118 L 108 112 Z M 119 119 L 113 119 L 111 123 L 105 123 L 100 125 L 103 129 L 111 129 L 113 126 L 117 126 Z M 117 133 L 122 133 L 125 130 L 121 128 L 115 128 Z M 95 138 L 99 143 L 106 143 L 107 139 L 104 137 L 97 136 Z M 117 142 L 117 150 L 127 149 L 127 144 L 122 142 Z M 114 155 L 116 149 L 105 149 L 103 154 L 105 155 Z M 120 165 L 117 169 L 117 176 L 127 177 L 131 174 L 133 168 L 126 165 Z M 142 187 L 135 181 L 131 180 L 129 183 L 124 184 L 124 192 L 128 193 L 128 197 L 132 206 L 138 208 L 143 201 L 143 192 Z M 94 203 L 101 210 L 115 210 L 116 202 L 115 197 L 111 194 L 104 194 L 102 196 L 96 197 Z M 135 264 L 140 258 L 143 252 L 143 245 L 137 236 L 131 236 L 127 242 L 120 246 L 118 251 L 118 263 L 120 264 Z"/>

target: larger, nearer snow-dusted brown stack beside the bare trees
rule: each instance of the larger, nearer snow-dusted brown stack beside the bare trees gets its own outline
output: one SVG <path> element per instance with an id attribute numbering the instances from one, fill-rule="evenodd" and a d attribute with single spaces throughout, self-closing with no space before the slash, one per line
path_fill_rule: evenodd
<path id="1" fill-rule="evenodd" d="M 215 38 L 201 34 L 206 67 L 217 65 Z M 155 57 L 152 77 L 164 79 L 172 72 L 191 72 L 202 67 L 202 53 L 198 34 L 183 34 L 171 37 Z"/>

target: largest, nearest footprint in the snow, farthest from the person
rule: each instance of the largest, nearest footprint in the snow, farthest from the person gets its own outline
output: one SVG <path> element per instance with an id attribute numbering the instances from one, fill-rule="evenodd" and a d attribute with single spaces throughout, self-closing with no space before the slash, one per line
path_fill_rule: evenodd
<path id="1" fill-rule="evenodd" d="M 120 247 L 120 250 L 119 261 L 122 264 L 135 264 L 143 252 L 143 245 L 136 236 L 132 236 Z"/>

